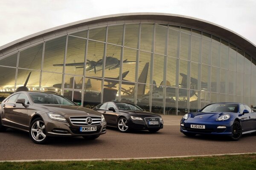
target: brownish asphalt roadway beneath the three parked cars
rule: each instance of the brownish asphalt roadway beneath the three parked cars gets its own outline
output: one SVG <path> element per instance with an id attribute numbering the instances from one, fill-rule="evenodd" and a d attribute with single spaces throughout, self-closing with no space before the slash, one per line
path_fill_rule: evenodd
<path id="1" fill-rule="evenodd" d="M 211 136 L 187 137 L 178 125 L 164 125 L 157 133 L 120 133 L 108 128 L 105 135 L 87 141 L 82 137 L 53 138 L 48 144 L 34 144 L 29 134 L 8 129 L 0 133 L 0 160 L 114 159 L 163 156 L 195 156 L 226 153 L 256 153 L 256 135 L 239 141 Z"/>

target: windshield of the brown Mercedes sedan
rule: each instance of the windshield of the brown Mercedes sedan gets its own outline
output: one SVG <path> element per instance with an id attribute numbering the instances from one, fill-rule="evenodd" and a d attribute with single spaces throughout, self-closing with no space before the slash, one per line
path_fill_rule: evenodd
<path id="1" fill-rule="evenodd" d="M 30 96 L 33 102 L 38 104 L 75 105 L 69 99 L 55 94 L 31 93 Z"/>

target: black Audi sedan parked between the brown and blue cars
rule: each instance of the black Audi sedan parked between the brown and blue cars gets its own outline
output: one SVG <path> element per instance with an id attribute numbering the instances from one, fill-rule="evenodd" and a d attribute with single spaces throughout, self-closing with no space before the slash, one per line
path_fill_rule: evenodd
<path id="1" fill-rule="evenodd" d="M 128 102 L 105 102 L 93 110 L 105 116 L 108 126 L 117 127 L 120 132 L 130 129 L 157 132 L 163 128 L 163 119 L 159 114 L 144 111 Z"/>

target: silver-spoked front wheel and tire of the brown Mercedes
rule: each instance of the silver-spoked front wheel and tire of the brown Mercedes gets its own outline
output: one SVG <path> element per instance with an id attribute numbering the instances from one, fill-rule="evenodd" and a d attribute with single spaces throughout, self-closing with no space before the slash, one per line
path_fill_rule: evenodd
<path id="1" fill-rule="evenodd" d="M 41 118 L 33 120 L 29 127 L 29 137 L 36 144 L 45 144 L 48 136 L 45 131 L 45 124 Z"/>

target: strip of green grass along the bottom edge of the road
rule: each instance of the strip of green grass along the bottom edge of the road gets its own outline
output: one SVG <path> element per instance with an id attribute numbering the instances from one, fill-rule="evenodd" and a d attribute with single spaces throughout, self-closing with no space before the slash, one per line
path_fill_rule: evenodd
<path id="1" fill-rule="evenodd" d="M 256 170 L 256 154 L 126 161 L 0 162 L 0 170 Z"/>

